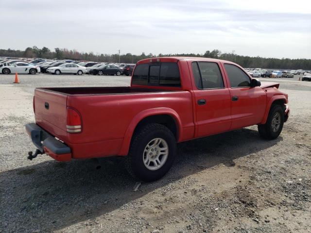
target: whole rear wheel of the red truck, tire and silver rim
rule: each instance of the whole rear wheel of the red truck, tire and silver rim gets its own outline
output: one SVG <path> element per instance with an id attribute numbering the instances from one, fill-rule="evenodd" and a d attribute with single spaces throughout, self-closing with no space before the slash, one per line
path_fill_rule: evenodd
<path id="1" fill-rule="evenodd" d="M 151 123 L 133 135 L 126 157 L 128 172 L 139 180 L 151 182 L 163 177 L 176 157 L 176 140 L 164 125 Z"/>

